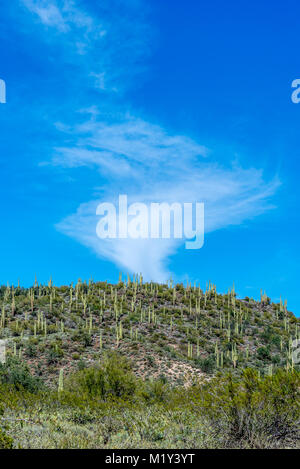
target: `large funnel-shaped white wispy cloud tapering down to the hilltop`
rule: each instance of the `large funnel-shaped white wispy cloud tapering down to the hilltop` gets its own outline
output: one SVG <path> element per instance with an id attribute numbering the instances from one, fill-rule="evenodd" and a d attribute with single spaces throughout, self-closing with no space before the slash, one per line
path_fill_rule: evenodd
<path id="1" fill-rule="evenodd" d="M 185 136 L 131 118 L 107 125 L 95 120 L 76 127 L 77 146 L 60 148 L 55 164 L 96 167 L 106 178 L 101 198 L 82 204 L 57 228 L 131 272 L 166 281 L 168 260 L 182 242 L 170 240 L 103 240 L 96 236 L 96 207 L 117 206 L 118 194 L 129 203 L 204 202 L 205 232 L 238 225 L 272 208 L 269 200 L 280 182 L 266 182 L 262 170 L 237 165 L 222 168 L 208 150 Z M 68 128 L 68 133 L 72 130 Z M 199 158 L 200 156 L 200 158 Z"/>

